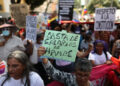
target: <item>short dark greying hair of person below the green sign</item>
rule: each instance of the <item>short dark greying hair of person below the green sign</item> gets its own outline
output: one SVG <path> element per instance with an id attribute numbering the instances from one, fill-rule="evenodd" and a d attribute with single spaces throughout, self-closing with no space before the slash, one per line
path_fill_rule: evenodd
<path id="1" fill-rule="evenodd" d="M 91 72 L 92 64 L 87 58 L 78 58 L 75 62 L 75 71 Z"/>

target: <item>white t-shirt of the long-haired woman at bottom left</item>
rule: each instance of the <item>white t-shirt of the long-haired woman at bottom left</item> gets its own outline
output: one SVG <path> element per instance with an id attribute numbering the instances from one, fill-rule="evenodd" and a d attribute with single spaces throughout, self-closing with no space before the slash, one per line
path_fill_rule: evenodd
<path id="1" fill-rule="evenodd" d="M 30 86 L 44 86 L 42 78 L 37 73 L 31 72 L 29 77 Z M 6 79 L 5 76 L 0 77 L 0 86 L 5 79 Z M 4 83 L 3 86 L 24 86 L 25 81 L 26 78 L 23 79 L 23 82 L 21 82 L 21 79 L 15 80 L 14 78 L 10 78 Z"/>

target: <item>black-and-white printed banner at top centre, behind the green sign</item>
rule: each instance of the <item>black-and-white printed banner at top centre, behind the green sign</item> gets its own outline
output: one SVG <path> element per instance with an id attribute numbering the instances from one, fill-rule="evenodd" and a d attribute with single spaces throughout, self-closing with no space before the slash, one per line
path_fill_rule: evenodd
<path id="1" fill-rule="evenodd" d="M 59 21 L 70 21 L 73 19 L 74 0 L 59 0 Z"/>

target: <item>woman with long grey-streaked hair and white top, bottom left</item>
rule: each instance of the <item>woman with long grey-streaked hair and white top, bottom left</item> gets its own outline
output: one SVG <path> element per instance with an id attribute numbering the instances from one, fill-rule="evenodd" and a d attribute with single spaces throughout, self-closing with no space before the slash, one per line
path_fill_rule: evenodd
<path id="1" fill-rule="evenodd" d="M 8 73 L 0 77 L 0 86 L 44 86 L 41 77 L 32 71 L 27 55 L 13 51 L 7 58 Z"/>

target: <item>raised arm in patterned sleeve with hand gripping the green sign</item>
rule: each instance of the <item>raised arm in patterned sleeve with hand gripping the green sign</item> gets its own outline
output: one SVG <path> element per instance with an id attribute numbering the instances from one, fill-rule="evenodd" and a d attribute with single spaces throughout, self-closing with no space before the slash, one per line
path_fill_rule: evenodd
<path id="1" fill-rule="evenodd" d="M 43 54 L 45 54 L 45 48 L 40 47 L 38 49 L 38 56 L 42 56 Z M 57 81 L 60 81 L 62 83 L 66 83 L 74 77 L 74 75 L 72 75 L 71 73 L 66 73 L 66 72 L 62 72 L 62 71 L 55 69 L 47 58 L 43 58 L 42 62 L 43 62 L 43 66 L 44 66 L 46 72 L 53 79 L 55 79 Z"/>

